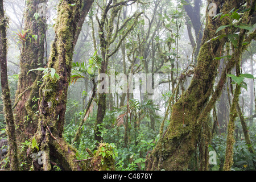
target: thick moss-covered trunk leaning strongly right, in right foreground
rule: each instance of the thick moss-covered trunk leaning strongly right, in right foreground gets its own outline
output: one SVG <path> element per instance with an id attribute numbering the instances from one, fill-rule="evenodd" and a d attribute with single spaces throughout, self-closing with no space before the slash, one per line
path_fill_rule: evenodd
<path id="1" fill-rule="evenodd" d="M 223 14 L 228 14 L 233 8 L 238 9 L 245 3 L 245 1 L 213 2 L 217 5 L 217 13 L 220 13 L 221 10 Z M 254 7 L 254 5 L 255 1 L 253 1 L 252 6 Z M 247 23 L 246 21 L 250 19 L 249 15 L 253 11 L 250 10 L 249 13 L 245 13 L 242 18 L 243 22 Z M 222 49 L 227 39 L 207 41 L 217 36 L 216 30 L 218 27 L 226 24 L 229 24 L 229 22 L 225 18 L 220 20 L 220 17 L 213 19 L 207 16 L 203 44 L 199 52 L 197 67 L 194 69 L 191 85 L 172 107 L 170 125 L 164 135 L 160 136 L 161 138 L 154 150 L 147 155 L 147 170 L 186 170 L 197 144 L 202 151 L 201 155 L 204 156 L 204 158 L 201 158 L 200 163 L 205 163 L 205 167 L 201 169 L 207 169 L 207 148 L 210 140 L 207 115 L 213 109 L 217 98 L 220 97 L 226 80 L 226 73 L 223 73 L 221 82 L 218 83 L 216 90 L 212 94 L 219 65 L 219 61 L 214 58 L 222 56 Z M 224 30 L 221 32 L 224 33 Z M 227 28 L 225 33 L 232 33 L 232 29 Z M 243 41 L 245 31 L 241 30 L 241 33 L 240 40 Z M 221 35 L 220 32 L 218 32 L 218 35 Z M 227 72 L 234 67 L 237 61 L 236 57 L 240 57 L 240 55 L 241 51 L 233 53 L 230 63 L 226 67 Z M 212 98 L 209 100 L 211 95 Z"/>

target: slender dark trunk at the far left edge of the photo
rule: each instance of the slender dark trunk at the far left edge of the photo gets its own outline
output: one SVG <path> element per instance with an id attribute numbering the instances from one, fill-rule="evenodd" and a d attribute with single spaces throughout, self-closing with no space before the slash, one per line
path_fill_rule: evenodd
<path id="1" fill-rule="evenodd" d="M 1 86 L 2 86 L 2 97 L 3 97 L 3 106 L 5 111 L 6 118 L 6 132 L 8 135 L 8 144 L 9 144 L 9 160 L 10 160 L 10 169 L 18 170 L 18 154 L 17 154 L 17 145 L 16 145 L 16 134 L 15 134 L 15 125 L 13 110 L 11 109 L 11 98 L 10 98 L 10 89 L 8 85 L 8 75 L 7 75 L 7 40 L 6 40 L 6 26 L 7 19 L 5 18 L 5 13 L 3 10 L 3 0 L 0 1 L 0 64 L 1 64 Z"/>

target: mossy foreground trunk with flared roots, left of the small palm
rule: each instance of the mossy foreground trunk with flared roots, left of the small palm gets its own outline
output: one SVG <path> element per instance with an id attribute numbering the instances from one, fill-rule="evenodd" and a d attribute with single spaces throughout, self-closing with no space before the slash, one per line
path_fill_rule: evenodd
<path id="1" fill-rule="evenodd" d="M 60 1 L 55 24 L 55 40 L 52 44 L 48 68 L 59 75 L 45 77 L 40 87 L 40 118 L 35 138 L 43 152 L 43 166 L 34 162 L 34 168 L 51 169 L 59 163 L 65 170 L 80 170 L 75 162 L 76 151 L 62 138 L 67 104 L 67 91 L 71 77 L 72 56 L 77 24 L 80 20 L 82 0 Z M 92 4 L 89 3 L 88 10 Z M 34 149 L 35 150 L 35 149 Z M 32 151 L 31 151 L 32 152 Z"/>

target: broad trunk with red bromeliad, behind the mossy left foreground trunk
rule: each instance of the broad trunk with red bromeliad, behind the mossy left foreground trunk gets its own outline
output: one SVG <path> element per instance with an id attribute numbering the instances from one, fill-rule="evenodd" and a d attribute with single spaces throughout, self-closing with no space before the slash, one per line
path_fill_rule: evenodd
<path id="1" fill-rule="evenodd" d="M 19 142 L 30 139 L 36 131 L 38 123 L 38 83 L 42 78 L 42 72 L 29 72 L 30 69 L 43 67 L 44 40 L 46 39 L 46 17 L 44 14 L 35 16 L 36 13 L 46 8 L 47 0 L 29 0 L 24 14 L 24 39 L 20 38 L 20 74 L 18 89 L 15 97 L 15 124 Z M 39 6 L 39 5 L 45 6 Z M 43 9 L 41 9 L 43 8 Z M 44 9 L 46 10 L 46 9 Z"/>

